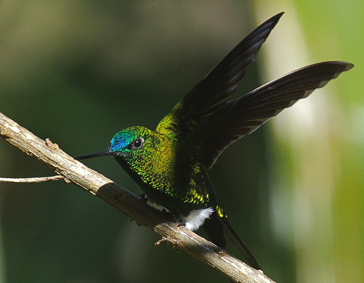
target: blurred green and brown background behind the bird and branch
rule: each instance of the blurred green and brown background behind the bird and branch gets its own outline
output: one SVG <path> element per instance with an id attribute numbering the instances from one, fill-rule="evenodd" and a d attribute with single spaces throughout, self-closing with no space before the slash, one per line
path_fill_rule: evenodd
<path id="1" fill-rule="evenodd" d="M 356 67 L 224 152 L 209 175 L 277 282 L 364 282 L 362 1 L 2 1 L 0 112 L 71 156 L 154 129 L 269 17 L 237 96 L 307 64 Z M 53 172 L 0 140 L 1 177 Z M 136 195 L 112 158 L 84 162 Z M 225 282 L 64 182 L 0 183 L 0 283 Z M 238 257 L 232 244 L 227 251 Z"/>

